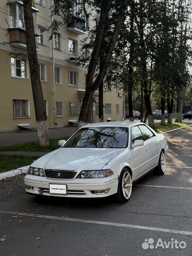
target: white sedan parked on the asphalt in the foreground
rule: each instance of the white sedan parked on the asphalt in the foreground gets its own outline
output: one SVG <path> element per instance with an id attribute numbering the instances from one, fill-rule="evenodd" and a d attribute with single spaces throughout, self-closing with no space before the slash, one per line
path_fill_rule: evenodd
<path id="1" fill-rule="evenodd" d="M 37 159 L 24 178 L 35 195 L 99 198 L 127 202 L 132 183 L 154 170 L 165 173 L 167 140 L 144 123 L 85 125 L 59 149 Z"/>

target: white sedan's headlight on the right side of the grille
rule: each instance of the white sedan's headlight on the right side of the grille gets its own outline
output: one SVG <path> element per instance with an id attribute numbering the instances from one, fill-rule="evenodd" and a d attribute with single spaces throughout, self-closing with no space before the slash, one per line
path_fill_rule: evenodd
<path id="1" fill-rule="evenodd" d="M 77 179 L 97 179 L 97 178 L 106 178 L 113 175 L 113 171 L 110 169 L 107 170 L 96 170 L 96 171 L 82 171 Z"/>

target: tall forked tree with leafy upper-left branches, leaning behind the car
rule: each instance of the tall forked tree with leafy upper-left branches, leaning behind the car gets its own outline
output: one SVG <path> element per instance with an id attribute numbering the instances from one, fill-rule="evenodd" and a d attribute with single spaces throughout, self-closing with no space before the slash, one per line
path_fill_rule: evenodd
<path id="1" fill-rule="evenodd" d="M 94 43 L 92 46 L 91 57 L 88 65 L 88 73 L 86 79 L 86 90 L 82 101 L 82 108 L 79 115 L 78 128 L 86 123 L 91 122 L 91 107 L 93 93 L 102 84 L 107 73 L 110 59 L 113 54 L 123 21 L 125 12 L 128 8 L 129 0 L 74 0 L 73 5 L 79 5 L 79 9 L 85 12 L 85 6 L 93 11 L 96 11 L 98 25 L 95 29 Z M 54 14 L 64 18 L 64 23 L 67 22 L 69 15 L 74 15 L 74 8 L 70 6 L 71 1 L 55 0 Z M 88 8 L 88 9 L 89 9 Z M 68 12 L 67 12 L 68 11 Z M 77 13 L 75 13 L 78 15 Z M 80 13 L 79 13 L 80 15 Z M 55 22 L 56 23 L 56 22 Z M 59 27 L 59 24 L 56 25 Z M 107 33 L 107 30 L 110 31 Z M 106 38 L 107 37 L 107 38 Z M 105 52 L 103 61 L 100 62 L 100 52 L 102 42 L 105 42 Z"/>

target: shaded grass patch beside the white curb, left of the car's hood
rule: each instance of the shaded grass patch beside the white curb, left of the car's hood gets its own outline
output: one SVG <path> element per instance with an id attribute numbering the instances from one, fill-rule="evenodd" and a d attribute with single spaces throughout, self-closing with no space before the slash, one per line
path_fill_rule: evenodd
<path id="1" fill-rule="evenodd" d="M 17 155 L 0 155 L 0 173 L 30 165 L 36 157 L 26 157 Z"/>

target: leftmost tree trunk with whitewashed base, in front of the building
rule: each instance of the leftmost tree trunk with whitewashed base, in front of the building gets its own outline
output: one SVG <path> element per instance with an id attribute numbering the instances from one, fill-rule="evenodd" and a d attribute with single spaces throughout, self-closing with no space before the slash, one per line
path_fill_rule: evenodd
<path id="1" fill-rule="evenodd" d="M 37 49 L 32 16 L 32 0 L 24 0 L 23 7 L 26 27 L 27 54 L 36 113 L 38 141 L 39 146 L 47 147 L 49 146 L 49 137 L 46 121 L 46 102 L 43 98 L 43 91 L 38 71 Z"/>

